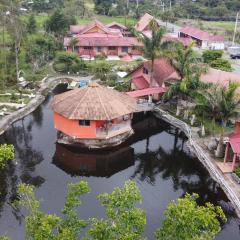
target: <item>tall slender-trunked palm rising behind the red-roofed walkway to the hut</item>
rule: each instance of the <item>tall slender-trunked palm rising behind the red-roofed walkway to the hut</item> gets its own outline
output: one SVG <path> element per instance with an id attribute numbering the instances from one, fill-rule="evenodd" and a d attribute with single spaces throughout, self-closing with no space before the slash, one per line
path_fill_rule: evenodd
<path id="1" fill-rule="evenodd" d="M 158 28 L 155 20 L 150 22 L 151 37 L 147 37 L 141 33 L 136 33 L 139 41 L 143 44 L 140 51 L 144 54 L 147 59 L 151 61 L 151 71 L 150 71 L 150 87 L 153 85 L 153 71 L 154 71 L 154 61 L 157 57 L 163 56 L 164 45 L 166 43 L 162 42 L 163 35 L 165 33 L 164 28 Z"/>

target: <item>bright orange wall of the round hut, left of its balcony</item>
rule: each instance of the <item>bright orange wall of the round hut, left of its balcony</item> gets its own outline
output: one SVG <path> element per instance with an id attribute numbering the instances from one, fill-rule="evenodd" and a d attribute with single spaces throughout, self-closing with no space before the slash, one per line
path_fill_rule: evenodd
<path id="1" fill-rule="evenodd" d="M 80 126 L 78 120 L 70 120 L 54 113 L 54 127 L 73 138 L 96 138 L 96 121 L 91 121 L 90 126 Z"/>

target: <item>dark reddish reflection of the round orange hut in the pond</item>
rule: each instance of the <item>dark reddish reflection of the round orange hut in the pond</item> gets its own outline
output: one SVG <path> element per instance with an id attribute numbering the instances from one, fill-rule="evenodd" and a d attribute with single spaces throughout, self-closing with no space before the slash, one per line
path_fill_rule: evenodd
<path id="1" fill-rule="evenodd" d="M 94 153 L 57 143 L 53 163 L 71 175 L 110 177 L 134 165 L 134 149 Z"/>

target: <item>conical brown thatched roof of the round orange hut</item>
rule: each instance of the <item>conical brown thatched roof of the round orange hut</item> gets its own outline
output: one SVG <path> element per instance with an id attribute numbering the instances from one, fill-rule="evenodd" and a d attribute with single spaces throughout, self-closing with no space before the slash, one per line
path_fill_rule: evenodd
<path id="1" fill-rule="evenodd" d="M 136 100 L 96 83 L 54 97 L 54 112 L 68 119 L 112 120 L 136 111 Z"/>

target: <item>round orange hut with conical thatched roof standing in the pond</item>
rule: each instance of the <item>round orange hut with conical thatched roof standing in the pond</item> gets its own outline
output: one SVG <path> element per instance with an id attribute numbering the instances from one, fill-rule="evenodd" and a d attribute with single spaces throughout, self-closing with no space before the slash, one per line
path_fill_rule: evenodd
<path id="1" fill-rule="evenodd" d="M 104 148 L 133 134 L 136 100 L 97 83 L 56 95 L 51 107 L 59 143 Z"/>

